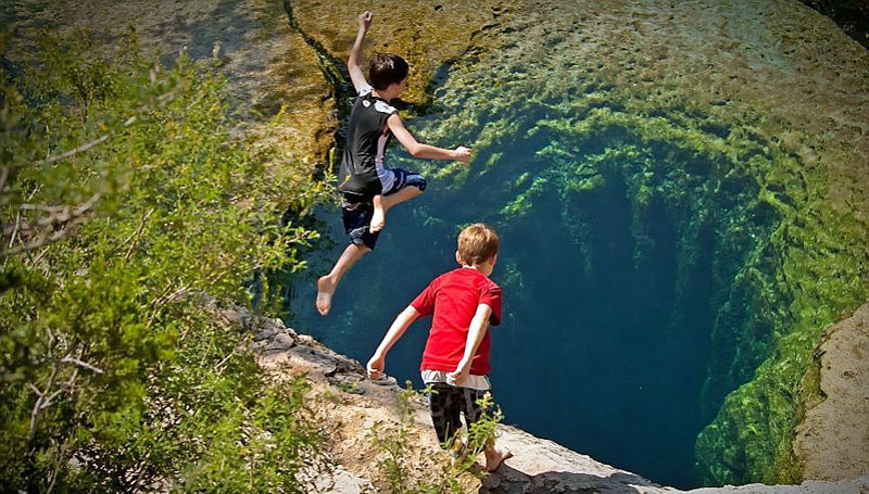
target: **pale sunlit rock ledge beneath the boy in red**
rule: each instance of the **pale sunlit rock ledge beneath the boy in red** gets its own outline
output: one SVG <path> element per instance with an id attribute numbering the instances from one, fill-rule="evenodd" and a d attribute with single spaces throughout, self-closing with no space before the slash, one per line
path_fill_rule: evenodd
<path id="1" fill-rule="evenodd" d="M 320 479 L 327 492 L 356 494 L 382 492 L 377 467 L 378 452 L 367 433 L 376 422 L 394 421 L 400 388 L 394 379 L 378 383 L 365 379 L 356 360 L 339 355 L 311 337 L 286 328 L 279 319 L 252 316 L 242 309 L 223 309 L 222 317 L 254 333 L 253 347 L 261 364 L 275 379 L 305 376 L 313 385 L 312 400 L 327 433 L 328 454 L 333 467 Z M 425 404 L 412 402 L 415 427 L 408 441 L 415 442 L 413 471 L 432 469 L 439 446 Z M 553 441 L 536 438 L 520 429 L 500 426 L 499 443 L 514 457 L 502 468 L 481 480 L 464 479 L 467 492 L 490 494 L 676 494 L 685 491 L 657 485 L 648 480 L 593 458 L 572 452 Z M 638 445 L 643 447 L 643 445 Z M 692 494 L 856 494 L 869 493 L 869 476 L 845 480 L 809 481 L 801 485 L 761 485 L 708 487 L 688 491 Z"/>

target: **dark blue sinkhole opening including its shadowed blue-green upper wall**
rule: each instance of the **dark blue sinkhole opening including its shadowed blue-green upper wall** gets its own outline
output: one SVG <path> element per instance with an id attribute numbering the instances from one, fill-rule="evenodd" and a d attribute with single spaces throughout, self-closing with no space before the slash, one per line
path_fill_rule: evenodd
<path id="1" fill-rule="evenodd" d="M 538 132 L 500 145 L 496 164 L 463 182 L 430 180 L 390 213 L 327 318 L 314 311 L 313 281 L 297 284 L 291 324 L 364 364 L 394 316 L 455 267 L 459 226 L 490 223 L 502 239 L 492 279 L 505 317 L 492 329 L 491 380 L 504 421 L 655 482 L 696 486 L 694 441 L 722 397 L 701 403 L 710 334 L 729 280 L 761 237 L 734 239 L 728 225 L 763 233 L 776 218 L 744 205 L 756 195 L 750 181 L 715 176 L 715 156 L 640 142 L 625 128 L 601 129 L 581 149 L 570 139 Z M 572 151 L 540 152 L 555 144 Z M 479 150 L 477 162 L 494 151 Z M 323 219 L 336 245 L 320 270 L 345 245 L 339 212 Z M 400 382 L 421 385 L 428 324 L 387 358 Z"/>

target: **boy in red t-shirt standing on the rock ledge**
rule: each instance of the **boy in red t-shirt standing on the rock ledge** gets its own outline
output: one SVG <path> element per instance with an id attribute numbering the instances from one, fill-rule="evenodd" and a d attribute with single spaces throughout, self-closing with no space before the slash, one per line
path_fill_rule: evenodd
<path id="1" fill-rule="evenodd" d="M 423 353 L 423 381 L 429 394 L 431 421 L 441 444 L 454 440 L 461 428 L 459 414 L 468 427 L 482 416 L 477 403 L 489 391 L 489 326 L 501 324 L 501 289 L 489 275 L 498 261 L 499 238 L 483 224 L 458 235 L 455 259 L 462 266 L 434 278 L 390 326 L 374 356 L 368 377 L 383 375 L 387 353 L 417 317 L 433 315 Z M 483 452 L 486 469 L 494 471 L 512 455 L 498 449 L 494 439 Z"/>

